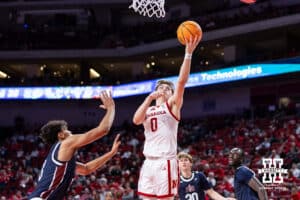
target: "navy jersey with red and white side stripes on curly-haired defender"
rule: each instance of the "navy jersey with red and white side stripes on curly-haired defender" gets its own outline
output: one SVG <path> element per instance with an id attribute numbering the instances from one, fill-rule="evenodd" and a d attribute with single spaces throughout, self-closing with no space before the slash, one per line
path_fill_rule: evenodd
<path id="1" fill-rule="evenodd" d="M 75 175 L 75 157 L 68 162 L 57 159 L 60 142 L 54 144 L 43 163 L 36 189 L 29 199 L 40 197 L 48 200 L 63 199 Z"/>

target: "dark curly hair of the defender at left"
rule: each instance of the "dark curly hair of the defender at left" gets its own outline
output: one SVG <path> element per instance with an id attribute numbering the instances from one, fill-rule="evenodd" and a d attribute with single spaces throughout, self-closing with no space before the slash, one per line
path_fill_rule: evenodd
<path id="1" fill-rule="evenodd" d="M 40 138 L 47 144 L 54 144 L 58 140 L 57 134 L 63 127 L 68 127 L 68 123 L 64 120 L 49 121 L 41 128 Z"/>

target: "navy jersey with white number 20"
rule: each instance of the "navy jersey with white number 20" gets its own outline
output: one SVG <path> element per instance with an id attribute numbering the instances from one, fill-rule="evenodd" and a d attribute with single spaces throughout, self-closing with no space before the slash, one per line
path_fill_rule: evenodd
<path id="1" fill-rule="evenodd" d="M 192 177 L 189 179 L 180 176 L 179 198 L 180 200 L 204 200 L 204 191 L 211 188 L 211 184 L 202 172 L 192 172 Z"/>

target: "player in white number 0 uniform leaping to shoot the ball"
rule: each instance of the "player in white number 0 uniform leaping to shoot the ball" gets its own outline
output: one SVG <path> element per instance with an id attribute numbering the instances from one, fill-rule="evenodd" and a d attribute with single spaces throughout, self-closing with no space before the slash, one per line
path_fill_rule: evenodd
<path id="1" fill-rule="evenodd" d="M 145 129 L 144 155 L 138 194 L 145 199 L 173 199 L 177 194 L 177 129 L 183 104 L 184 87 L 188 81 L 192 54 L 200 38 L 187 41 L 176 88 L 172 82 L 157 82 L 134 114 L 133 122 Z M 155 101 L 155 106 L 150 106 Z"/>

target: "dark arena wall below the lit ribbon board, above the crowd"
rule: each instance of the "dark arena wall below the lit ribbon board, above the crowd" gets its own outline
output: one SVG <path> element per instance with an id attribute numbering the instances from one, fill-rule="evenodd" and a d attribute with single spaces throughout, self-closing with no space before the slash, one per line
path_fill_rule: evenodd
<path id="1" fill-rule="evenodd" d="M 116 100 L 115 124 L 131 122 L 132 116 L 145 96 Z M 0 126 L 11 126 L 17 116 L 25 123 L 41 124 L 51 119 L 65 119 L 70 124 L 96 125 L 104 111 L 98 109 L 97 100 L 55 101 L 1 101 Z M 249 88 L 186 90 L 182 118 L 195 118 L 210 114 L 236 113 L 250 105 Z"/>

